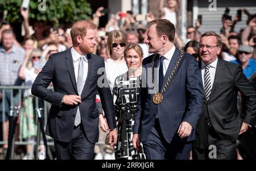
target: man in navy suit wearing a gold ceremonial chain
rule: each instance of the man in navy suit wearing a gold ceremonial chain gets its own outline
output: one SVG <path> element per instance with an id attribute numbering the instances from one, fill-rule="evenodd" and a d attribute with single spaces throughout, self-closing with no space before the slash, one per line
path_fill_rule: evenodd
<path id="1" fill-rule="evenodd" d="M 143 60 L 141 95 L 133 145 L 147 159 L 188 159 L 203 105 L 203 82 L 195 57 L 174 45 L 175 27 L 166 19 L 150 24 Z M 158 74 L 154 74 L 158 73 Z M 159 84 L 157 85 L 156 83 Z"/>

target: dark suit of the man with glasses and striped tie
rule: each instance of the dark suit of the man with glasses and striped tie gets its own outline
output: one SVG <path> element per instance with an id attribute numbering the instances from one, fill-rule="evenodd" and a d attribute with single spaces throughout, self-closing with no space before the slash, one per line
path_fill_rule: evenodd
<path id="1" fill-rule="evenodd" d="M 201 68 L 201 63 L 199 66 Z M 238 91 L 245 97 L 242 119 L 237 110 Z M 207 159 L 208 146 L 212 144 L 209 141 L 214 139 L 221 140 L 218 145 L 231 143 L 225 147 L 225 152 L 217 148 L 217 159 L 234 159 L 242 122 L 254 126 L 255 112 L 256 92 L 243 74 L 241 66 L 218 59 L 212 93 L 208 102 L 204 99 L 203 111 L 197 124 L 197 139 L 193 142 L 194 159 Z M 211 127 L 208 127 L 209 117 Z"/>

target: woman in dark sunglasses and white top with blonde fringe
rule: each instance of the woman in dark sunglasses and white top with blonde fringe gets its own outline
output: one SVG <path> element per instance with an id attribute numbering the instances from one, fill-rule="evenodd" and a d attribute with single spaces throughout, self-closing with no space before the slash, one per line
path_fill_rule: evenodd
<path id="1" fill-rule="evenodd" d="M 123 32 L 114 30 L 109 33 L 106 45 L 106 53 L 109 59 L 105 61 L 105 68 L 111 91 L 113 90 L 115 78 L 128 70 L 125 58 L 123 57 L 126 44 L 127 41 Z"/>

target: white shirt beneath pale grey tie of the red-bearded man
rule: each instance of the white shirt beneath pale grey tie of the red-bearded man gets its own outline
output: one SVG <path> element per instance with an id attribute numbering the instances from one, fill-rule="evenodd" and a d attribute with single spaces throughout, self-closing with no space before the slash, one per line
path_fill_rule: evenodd
<path id="1" fill-rule="evenodd" d="M 84 75 L 82 77 L 82 87 L 84 87 L 86 78 L 87 78 L 87 74 L 88 74 L 88 59 L 87 59 L 87 55 L 80 55 L 78 52 L 75 51 L 75 49 L 72 47 L 71 48 L 71 55 L 73 58 L 73 64 L 74 64 L 74 68 L 75 68 L 75 77 L 76 77 L 76 82 L 77 82 L 77 77 L 78 77 L 78 72 L 79 72 L 79 58 L 81 56 L 84 56 L 82 60 L 83 64 L 84 64 Z"/>

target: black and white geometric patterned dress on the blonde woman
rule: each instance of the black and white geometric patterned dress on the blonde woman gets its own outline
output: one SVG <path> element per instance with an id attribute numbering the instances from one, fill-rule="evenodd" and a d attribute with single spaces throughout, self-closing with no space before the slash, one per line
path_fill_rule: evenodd
<path id="1" fill-rule="evenodd" d="M 133 147 L 134 113 L 137 110 L 137 99 L 141 76 L 125 77 L 125 74 L 115 79 L 113 97 L 115 116 L 118 120 L 117 143 L 115 144 L 115 159 L 146 159 L 143 149 L 137 151 Z"/>

